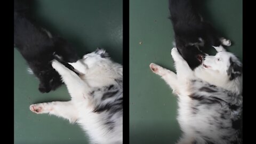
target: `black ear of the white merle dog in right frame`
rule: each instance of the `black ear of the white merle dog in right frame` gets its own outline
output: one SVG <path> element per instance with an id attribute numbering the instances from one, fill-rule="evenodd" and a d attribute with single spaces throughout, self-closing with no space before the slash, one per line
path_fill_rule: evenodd
<path id="1" fill-rule="evenodd" d="M 230 66 L 227 70 L 229 80 L 233 80 L 234 78 L 241 76 L 243 74 L 243 66 L 242 63 L 239 61 L 234 61 L 233 59 L 229 59 Z"/>

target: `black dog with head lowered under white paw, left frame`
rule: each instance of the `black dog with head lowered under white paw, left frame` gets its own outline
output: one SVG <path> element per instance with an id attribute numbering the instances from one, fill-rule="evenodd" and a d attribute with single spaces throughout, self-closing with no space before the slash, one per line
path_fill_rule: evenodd
<path id="1" fill-rule="evenodd" d="M 76 62 L 79 57 L 71 45 L 49 31 L 36 25 L 31 19 L 29 0 L 14 1 L 14 47 L 17 47 L 23 58 L 26 59 L 30 69 L 39 79 L 39 91 L 50 92 L 62 84 L 60 75 L 51 66 L 53 59 L 65 63 Z M 73 69 L 74 70 L 74 69 Z"/>

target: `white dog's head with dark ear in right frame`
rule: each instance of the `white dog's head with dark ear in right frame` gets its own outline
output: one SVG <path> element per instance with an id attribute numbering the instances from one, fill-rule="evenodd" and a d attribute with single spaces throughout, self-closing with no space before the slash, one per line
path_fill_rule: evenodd
<path id="1" fill-rule="evenodd" d="M 233 80 L 238 76 L 242 76 L 242 63 L 233 53 L 221 51 L 216 55 L 207 55 L 202 61 L 202 67 L 216 71 L 217 73 L 227 74 L 229 80 Z"/>

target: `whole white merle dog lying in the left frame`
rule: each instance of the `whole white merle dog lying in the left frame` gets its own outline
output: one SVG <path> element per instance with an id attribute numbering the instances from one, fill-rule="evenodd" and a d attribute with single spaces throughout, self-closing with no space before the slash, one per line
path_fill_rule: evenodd
<path id="1" fill-rule="evenodd" d="M 78 123 L 91 143 L 123 143 L 123 66 L 98 49 L 84 55 L 82 62 L 85 65 L 70 63 L 82 73 L 79 76 L 60 62 L 52 62 L 67 85 L 70 101 L 37 103 L 30 110 Z"/>

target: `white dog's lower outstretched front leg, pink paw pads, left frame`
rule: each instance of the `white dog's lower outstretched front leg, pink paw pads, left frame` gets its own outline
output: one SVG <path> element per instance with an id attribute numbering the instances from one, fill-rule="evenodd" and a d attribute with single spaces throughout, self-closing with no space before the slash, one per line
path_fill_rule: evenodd
<path id="1" fill-rule="evenodd" d="M 30 105 L 29 109 L 36 114 L 55 115 L 74 123 L 78 118 L 78 111 L 71 101 L 53 101 Z"/>

